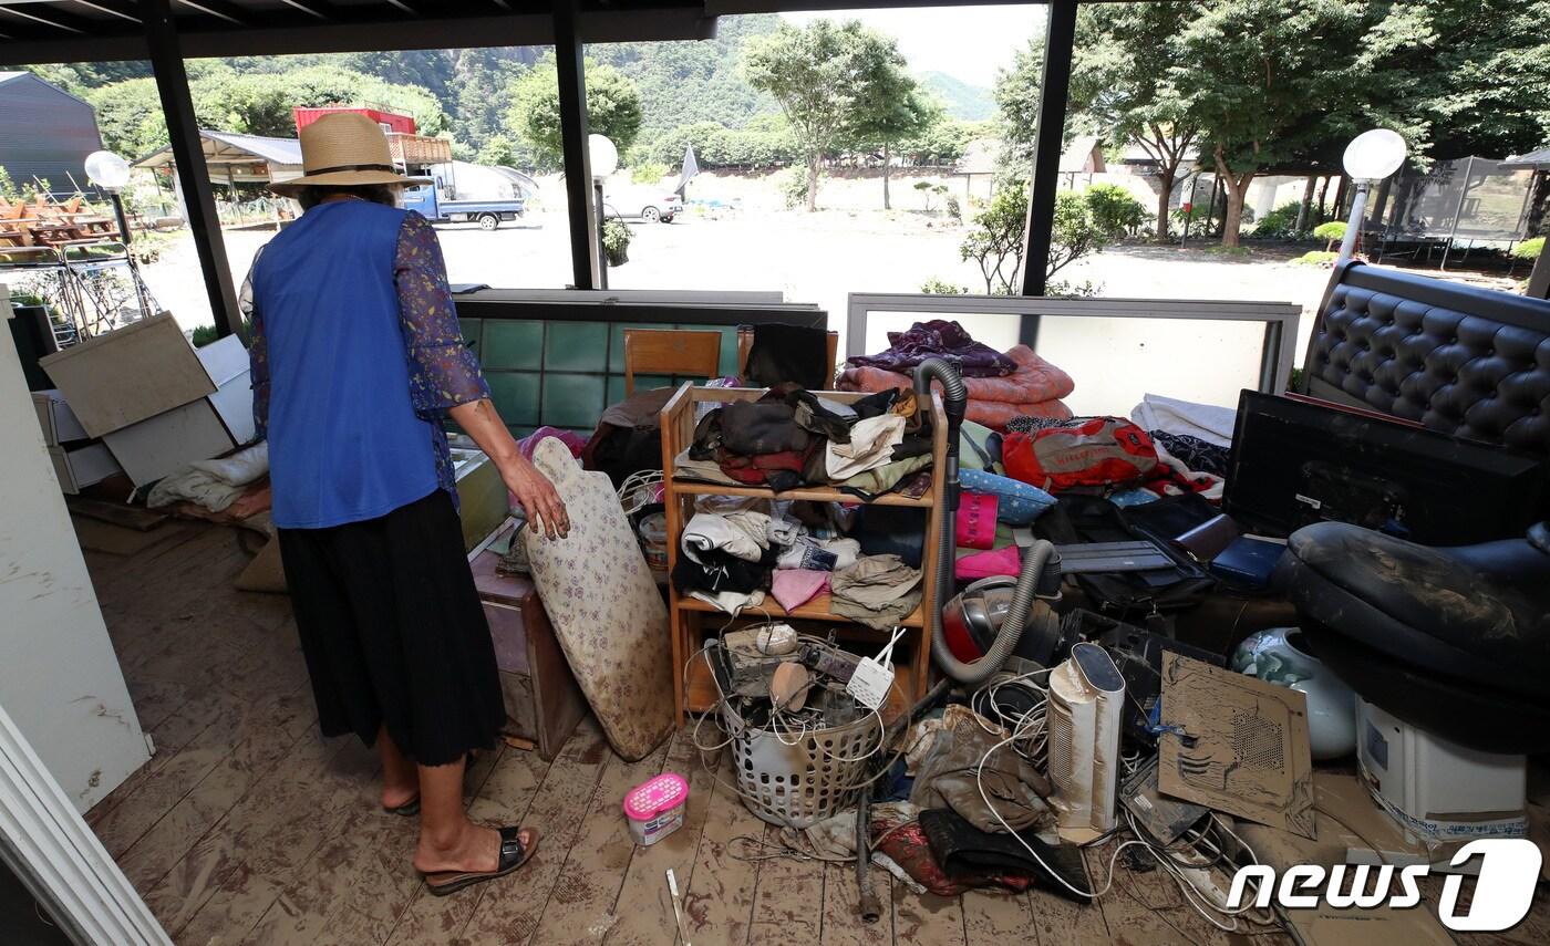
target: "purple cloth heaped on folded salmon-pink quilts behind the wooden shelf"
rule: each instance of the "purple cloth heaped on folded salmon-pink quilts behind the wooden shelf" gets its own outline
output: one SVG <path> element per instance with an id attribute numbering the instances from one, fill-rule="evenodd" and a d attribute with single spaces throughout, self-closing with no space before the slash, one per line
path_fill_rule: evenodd
<path id="1" fill-rule="evenodd" d="M 973 341 L 958 322 L 916 322 L 908 331 L 890 331 L 890 348 L 852 358 L 840 375 L 840 390 L 879 392 L 911 389 L 914 368 L 927 358 L 958 365 L 969 389 L 966 416 L 1003 430 L 1015 416 L 1065 420 L 1065 398 L 1076 384 L 1071 376 L 1034 353 L 1014 345 L 1004 355 Z"/>

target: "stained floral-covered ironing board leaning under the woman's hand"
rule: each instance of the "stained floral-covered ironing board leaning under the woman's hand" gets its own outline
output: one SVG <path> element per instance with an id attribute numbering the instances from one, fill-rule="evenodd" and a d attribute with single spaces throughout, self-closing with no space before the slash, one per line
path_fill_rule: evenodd
<path id="1" fill-rule="evenodd" d="M 608 474 L 586 472 L 560 440 L 533 451 L 570 516 L 556 542 L 522 530 L 560 649 L 614 751 L 634 762 L 673 729 L 673 641 L 640 545 Z"/>

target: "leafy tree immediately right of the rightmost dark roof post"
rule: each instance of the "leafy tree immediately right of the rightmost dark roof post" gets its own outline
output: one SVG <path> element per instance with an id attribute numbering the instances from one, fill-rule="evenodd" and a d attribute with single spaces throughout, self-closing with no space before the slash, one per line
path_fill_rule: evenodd
<path id="1" fill-rule="evenodd" d="M 1071 60 L 1070 110 L 1113 144 L 1135 141 L 1158 167 L 1156 234 L 1167 238 L 1169 198 L 1200 127 L 1159 51 L 1198 14 L 1189 3 L 1099 3 L 1080 8 Z"/>

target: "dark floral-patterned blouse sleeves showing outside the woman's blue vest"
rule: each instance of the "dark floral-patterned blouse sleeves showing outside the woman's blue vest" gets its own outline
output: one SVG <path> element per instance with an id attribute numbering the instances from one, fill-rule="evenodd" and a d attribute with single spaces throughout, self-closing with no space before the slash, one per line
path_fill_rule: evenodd
<path id="1" fill-rule="evenodd" d="M 262 252 L 259 249 L 259 254 Z M 253 262 L 257 265 L 257 255 Z M 457 477 L 446 446 L 446 430 L 440 421 L 459 404 L 488 398 L 490 386 L 479 370 L 479 359 L 463 345 L 436 229 L 414 211 L 405 215 L 398 229 L 394 283 L 398 288 L 398 317 L 409 358 L 409 399 L 420 418 L 436 421 L 431 424 L 436 480 L 437 486 L 451 494 L 456 506 Z M 259 438 L 264 438 L 268 434 L 270 413 L 268 348 L 264 339 L 264 316 L 253 302 L 251 271 L 242 283 L 239 308 L 250 324 L 253 420 Z"/>

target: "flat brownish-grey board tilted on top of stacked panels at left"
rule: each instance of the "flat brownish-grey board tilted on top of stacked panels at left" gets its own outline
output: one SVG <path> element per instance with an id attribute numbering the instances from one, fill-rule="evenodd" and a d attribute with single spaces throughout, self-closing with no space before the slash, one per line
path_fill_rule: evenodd
<path id="1" fill-rule="evenodd" d="M 37 364 L 91 437 L 192 404 L 220 386 L 170 313 L 87 339 Z"/>

